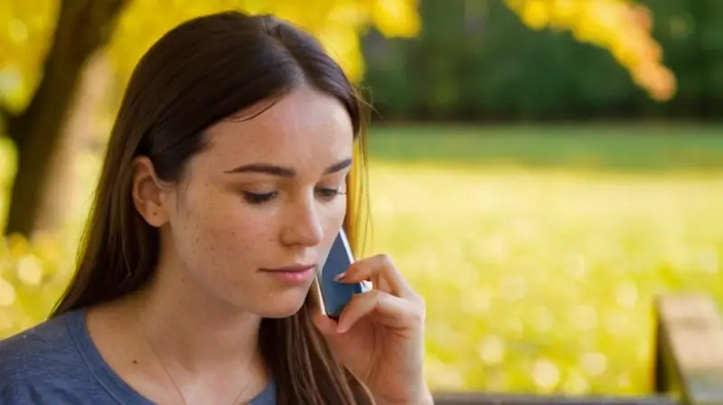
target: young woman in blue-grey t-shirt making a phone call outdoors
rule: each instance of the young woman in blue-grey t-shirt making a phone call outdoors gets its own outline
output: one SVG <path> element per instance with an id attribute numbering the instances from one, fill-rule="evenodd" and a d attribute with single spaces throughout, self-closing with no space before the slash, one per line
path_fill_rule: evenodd
<path id="1" fill-rule="evenodd" d="M 70 287 L 0 343 L 0 403 L 431 403 L 424 303 L 390 259 L 346 271 L 374 289 L 338 322 L 313 294 L 359 223 L 362 106 L 272 16 L 165 34 L 128 84 Z"/>

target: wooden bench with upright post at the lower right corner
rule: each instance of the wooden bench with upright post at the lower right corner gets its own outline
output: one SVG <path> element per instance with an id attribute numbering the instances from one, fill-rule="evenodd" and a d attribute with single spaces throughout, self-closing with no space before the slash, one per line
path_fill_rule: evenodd
<path id="1" fill-rule="evenodd" d="M 703 294 L 655 301 L 654 392 L 643 397 L 439 392 L 436 405 L 723 405 L 723 318 Z"/>

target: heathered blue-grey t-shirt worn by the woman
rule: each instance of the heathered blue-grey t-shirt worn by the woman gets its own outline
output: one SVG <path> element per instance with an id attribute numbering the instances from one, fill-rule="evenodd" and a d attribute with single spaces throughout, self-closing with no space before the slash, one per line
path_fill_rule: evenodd
<path id="1" fill-rule="evenodd" d="M 276 404 L 269 384 L 251 405 Z M 74 311 L 0 341 L 2 405 L 149 405 L 108 366 Z"/>

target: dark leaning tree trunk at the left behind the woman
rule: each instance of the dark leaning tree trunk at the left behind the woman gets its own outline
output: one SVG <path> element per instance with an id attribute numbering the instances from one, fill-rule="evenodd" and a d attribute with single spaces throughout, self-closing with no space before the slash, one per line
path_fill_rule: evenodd
<path id="1" fill-rule="evenodd" d="M 29 236 L 36 226 L 82 70 L 90 56 L 108 42 L 127 2 L 61 1 L 33 99 L 22 114 L 6 118 L 7 132 L 17 147 L 18 167 L 5 234 Z"/>

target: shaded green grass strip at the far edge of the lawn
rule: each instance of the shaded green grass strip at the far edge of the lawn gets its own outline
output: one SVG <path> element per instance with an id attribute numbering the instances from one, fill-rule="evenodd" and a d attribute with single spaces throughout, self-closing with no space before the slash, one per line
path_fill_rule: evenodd
<path id="1" fill-rule="evenodd" d="M 669 171 L 723 169 L 723 127 L 383 127 L 371 131 L 375 160 Z"/>

